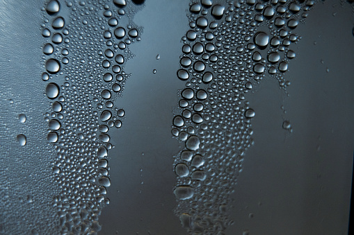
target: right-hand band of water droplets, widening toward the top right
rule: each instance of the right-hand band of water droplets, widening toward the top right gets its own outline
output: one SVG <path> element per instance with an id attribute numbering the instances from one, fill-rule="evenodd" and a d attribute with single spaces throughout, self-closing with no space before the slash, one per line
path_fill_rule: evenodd
<path id="1" fill-rule="evenodd" d="M 184 143 L 174 159 L 175 214 L 191 234 L 224 234 L 230 194 L 253 144 L 255 110 L 246 101 L 266 75 L 287 93 L 298 24 L 315 1 L 191 1 L 177 77 L 186 81 L 172 135 Z M 289 121 L 282 127 L 291 130 Z"/>

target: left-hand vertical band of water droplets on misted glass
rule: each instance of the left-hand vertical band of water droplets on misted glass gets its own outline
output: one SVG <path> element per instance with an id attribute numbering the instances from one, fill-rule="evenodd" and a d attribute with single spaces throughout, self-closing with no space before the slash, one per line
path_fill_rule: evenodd
<path id="1" fill-rule="evenodd" d="M 140 41 L 134 17 L 143 1 L 58 1 L 42 8 L 42 61 L 45 94 L 51 100 L 47 141 L 53 143 L 54 198 L 59 229 L 69 234 L 95 234 L 98 218 L 109 203 L 110 128 L 120 128 L 122 96 L 133 57 L 129 44 Z M 22 143 L 23 137 L 17 137 Z"/>

